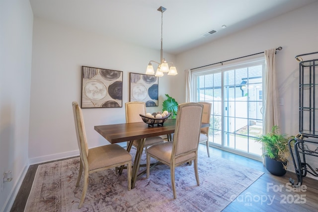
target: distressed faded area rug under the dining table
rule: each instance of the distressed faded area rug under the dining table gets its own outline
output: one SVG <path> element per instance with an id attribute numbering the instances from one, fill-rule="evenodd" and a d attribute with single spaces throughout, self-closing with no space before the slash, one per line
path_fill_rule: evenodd
<path id="1" fill-rule="evenodd" d="M 131 154 L 135 156 L 135 149 Z M 153 158 L 152 158 L 153 159 Z M 143 153 L 142 164 L 146 163 Z M 141 167 L 141 170 L 146 169 Z M 177 199 L 173 199 L 170 168 L 157 165 L 150 177 L 140 176 L 128 191 L 127 172 L 115 169 L 89 175 L 84 204 L 78 209 L 83 187 L 75 187 L 79 157 L 39 165 L 25 212 L 220 212 L 263 172 L 199 151 L 197 186 L 193 164 L 175 168 Z"/>

